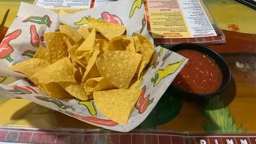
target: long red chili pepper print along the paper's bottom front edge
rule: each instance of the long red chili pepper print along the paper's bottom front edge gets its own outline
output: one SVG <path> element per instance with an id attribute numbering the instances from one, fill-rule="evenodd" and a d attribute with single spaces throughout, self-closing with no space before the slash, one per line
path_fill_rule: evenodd
<path id="1" fill-rule="evenodd" d="M 74 118 L 82 119 L 82 120 L 85 120 L 85 121 L 88 121 L 88 122 L 94 123 L 94 124 L 100 124 L 100 125 L 105 125 L 105 126 L 115 126 L 118 124 L 118 123 L 116 123 L 112 120 L 108 120 L 108 119 L 100 119 L 100 118 L 94 118 L 94 117 L 83 117 L 83 116 L 80 116 L 78 114 L 75 114 L 75 113 L 72 113 L 69 111 L 66 111 L 66 113 L 68 115 L 71 115 Z"/>

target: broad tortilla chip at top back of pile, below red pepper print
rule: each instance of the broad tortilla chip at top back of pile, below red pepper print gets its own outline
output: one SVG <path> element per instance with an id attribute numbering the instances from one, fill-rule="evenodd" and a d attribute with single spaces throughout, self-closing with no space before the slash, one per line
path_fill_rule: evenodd
<path id="1" fill-rule="evenodd" d="M 94 28 L 94 27 L 108 40 L 116 36 L 122 35 L 126 30 L 126 27 L 122 25 L 118 25 L 115 23 L 107 22 L 107 21 L 101 21 L 94 18 L 89 18 L 88 28 Z"/>

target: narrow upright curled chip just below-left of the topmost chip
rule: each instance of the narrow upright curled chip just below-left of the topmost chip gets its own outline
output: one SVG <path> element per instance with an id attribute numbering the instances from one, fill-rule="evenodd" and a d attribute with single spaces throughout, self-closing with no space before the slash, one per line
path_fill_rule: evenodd
<path id="1" fill-rule="evenodd" d="M 81 59 L 86 55 L 90 55 L 91 52 L 93 52 L 94 41 L 95 41 L 95 29 L 92 30 L 92 32 L 88 35 L 85 41 L 81 44 L 81 46 L 79 46 L 79 48 L 75 51 L 75 56 L 78 59 Z"/>

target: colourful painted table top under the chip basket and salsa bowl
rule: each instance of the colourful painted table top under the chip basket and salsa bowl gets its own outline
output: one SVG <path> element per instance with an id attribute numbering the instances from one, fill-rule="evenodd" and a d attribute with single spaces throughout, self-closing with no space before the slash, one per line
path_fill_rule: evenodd
<path id="1" fill-rule="evenodd" d="M 18 12 L 20 1 L 0 0 L 0 40 Z M 256 131 L 256 11 L 234 0 L 204 0 L 210 13 L 226 35 L 225 45 L 209 45 L 227 60 L 232 72 L 228 88 L 220 95 L 196 103 L 166 92 L 141 129 L 172 131 L 215 131 L 241 133 Z M 7 19 L 4 15 L 10 9 Z M 13 78 L 0 76 L 0 83 Z M 96 129 L 91 124 L 26 99 L 0 98 L 0 125 L 34 128 Z"/>

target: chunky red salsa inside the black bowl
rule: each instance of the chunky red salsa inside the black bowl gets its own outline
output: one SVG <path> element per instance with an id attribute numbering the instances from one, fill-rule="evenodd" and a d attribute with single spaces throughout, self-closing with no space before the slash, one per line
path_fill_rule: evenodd
<path id="1" fill-rule="evenodd" d="M 216 92 L 222 85 L 222 71 L 208 55 L 194 50 L 177 51 L 189 59 L 174 79 L 177 87 L 197 94 Z"/>

